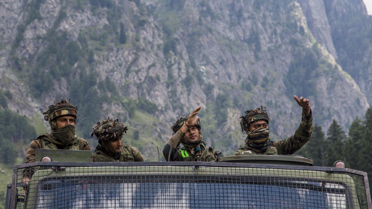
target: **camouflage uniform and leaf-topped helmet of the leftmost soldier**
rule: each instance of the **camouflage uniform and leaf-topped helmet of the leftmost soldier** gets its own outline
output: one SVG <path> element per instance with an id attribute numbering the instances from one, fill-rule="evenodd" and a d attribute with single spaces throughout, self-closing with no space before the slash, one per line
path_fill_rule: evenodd
<path id="1" fill-rule="evenodd" d="M 58 132 L 58 130 L 67 130 L 66 126 L 61 127 L 60 129 L 57 129 L 57 125 L 55 122 L 55 119 L 57 119 L 60 116 L 70 115 L 73 116 L 76 121 L 76 112 L 77 107 L 72 105 L 70 101 L 66 101 L 65 99 L 62 99 L 61 102 L 56 102 L 55 105 L 49 106 L 49 109 L 47 112 L 44 112 L 44 119 L 49 122 L 49 125 L 51 126 L 52 132 L 46 133 L 43 135 L 38 136 L 38 138 L 33 139 L 33 141 L 30 143 L 27 153 L 26 153 L 26 161 L 25 163 L 32 163 L 35 162 L 35 149 L 74 149 L 74 150 L 89 150 L 90 146 L 88 142 L 80 137 L 77 137 L 74 135 L 74 128 L 75 126 L 68 125 L 68 128 L 70 130 L 73 129 L 71 132 L 72 136 L 67 141 L 60 141 L 60 138 L 58 138 L 58 134 L 61 132 Z M 33 170 L 26 170 L 23 173 L 23 177 L 30 178 L 33 175 Z"/>

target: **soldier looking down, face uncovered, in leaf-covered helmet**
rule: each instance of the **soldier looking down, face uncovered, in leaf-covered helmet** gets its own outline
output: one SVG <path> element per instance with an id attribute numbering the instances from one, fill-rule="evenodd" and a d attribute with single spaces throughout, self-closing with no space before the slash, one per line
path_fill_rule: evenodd
<path id="1" fill-rule="evenodd" d="M 118 119 L 112 118 L 98 122 L 93 127 L 93 135 L 98 145 L 92 154 L 93 162 L 143 162 L 141 152 L 131 145 L 122 144 L 122 138 L 128 128 Z"/>

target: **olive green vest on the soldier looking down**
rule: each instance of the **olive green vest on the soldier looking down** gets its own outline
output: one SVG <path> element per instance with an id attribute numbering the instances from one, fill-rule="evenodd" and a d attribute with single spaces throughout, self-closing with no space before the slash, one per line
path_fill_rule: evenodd
<path id="1" fill-rule="evenodd" d="M 111 156 L 107 155 L 105 152 L 100 149 L 95 149 L 92 157 L 95 158 L 95 162 L 134 162 L 134 154 L 131 145 L 123 144 L 121 146 L 120 158 L 115 160 Z"/>

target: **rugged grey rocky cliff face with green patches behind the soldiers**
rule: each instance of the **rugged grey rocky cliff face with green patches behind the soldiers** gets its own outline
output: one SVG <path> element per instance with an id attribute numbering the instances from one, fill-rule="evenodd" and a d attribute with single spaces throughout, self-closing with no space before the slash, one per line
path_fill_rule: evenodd
<path id="1" fill-rule="evenodd" d="M 93 120 L 125 120 L 141 133 L 128 142 L 146 144 L 148 158 L 198 105 L 207 143 L 228 154 L 244 143 L 238 118 L 260 105 L 271 138 L 292 135 L 301 118 L 293 95 L 311 100 L 325 129 L 333 119 L 347 128 L 372 101 L 371 19 L 361 0 L 335 2 L 2 1 L 1 90 L 14 95 L 10 109 L 40 120 L 52 101 L 70 97 L 91 123 L 84 136 Z M 350 56 L 358 38 L 368 43 Z"/>

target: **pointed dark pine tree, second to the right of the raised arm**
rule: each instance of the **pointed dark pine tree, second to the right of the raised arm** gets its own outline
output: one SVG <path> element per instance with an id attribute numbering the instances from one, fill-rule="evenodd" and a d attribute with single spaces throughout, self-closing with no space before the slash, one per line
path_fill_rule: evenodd
<path id="1" fill-rule="evenodd" d="M 328 138 L 326 142 L 328 143 L 326 154 L 326 166 L 333 166 L 333 163 L 337 160 L 345 161 L 345 156 L 343 155 L 343 147 L 346 141 L 345 132 L 342 130 L 341 126 L 333 120 L 331 126 L 327 132 Z"/>

